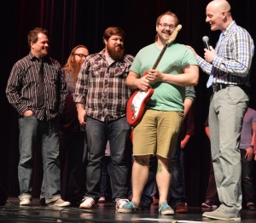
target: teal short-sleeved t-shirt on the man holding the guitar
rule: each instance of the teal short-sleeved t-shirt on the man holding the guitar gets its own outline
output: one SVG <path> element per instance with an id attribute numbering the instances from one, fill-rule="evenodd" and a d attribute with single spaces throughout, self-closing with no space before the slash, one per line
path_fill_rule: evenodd
<path id="1" fill-rule="evenodd" d="M 161 49 L 156 44 L 150 44 L 141 49 L 133 61 L 130 70 L 141 77 L 154 66 Z M 195 55 L 186 46 L 179 43 L 172 43 L 156 67 L 156 70 L 164 73 L 183 73 L 183 67 L 196 65 Z M 152 84 L 154 94 L 148 100 L 147 107 L 160 111 L 182 111 L 185 98 L 185 88 L 171 83 L 156 82 Z"/>

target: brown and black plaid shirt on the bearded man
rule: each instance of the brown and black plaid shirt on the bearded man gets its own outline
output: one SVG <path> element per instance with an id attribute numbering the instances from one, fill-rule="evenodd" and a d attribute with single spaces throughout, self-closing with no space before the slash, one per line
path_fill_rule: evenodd
<path id="1" fill-rule="evenodd" d="M 134 57 L 125 54 L 122 60 L 108 65 L 105 49 L 90 54 L 80 69 L 73 99 L 85 105 L 88 116 L 102 122 L 125 117 L 131 90 L 125 79 Z"/>

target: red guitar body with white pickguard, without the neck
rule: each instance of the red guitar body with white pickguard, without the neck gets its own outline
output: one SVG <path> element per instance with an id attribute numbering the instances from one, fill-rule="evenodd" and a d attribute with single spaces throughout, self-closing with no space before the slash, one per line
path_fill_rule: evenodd
<path id="1" fill-rule="evenodd" d="M 154 89 L 148 89 L 147 92 L 143 90 L 136 90 L 127 102 L 126 119 L 127 122 L 133 126 L 137 125 L 143 117 L 147 101 L 154 94 Z"/>

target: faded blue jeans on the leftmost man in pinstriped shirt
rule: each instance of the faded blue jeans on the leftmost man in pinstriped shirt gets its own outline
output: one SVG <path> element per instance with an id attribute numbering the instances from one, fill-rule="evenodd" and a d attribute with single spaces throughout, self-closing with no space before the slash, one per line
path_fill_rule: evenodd
<path id="1" fill-rule="evenodd" d="M 44 179 L 41 197 L 45 202 L 61 198 L 61 169 L 59 156 L 59 123 L 58 120 L 40 121 L 35 116 L 20 117 L 20 162 L 18 176 L 20 199 L 32 197 L 32 165 L 34 150 L 42 146 Z M 41 142 L 39 145 L 38 142 Z"/>

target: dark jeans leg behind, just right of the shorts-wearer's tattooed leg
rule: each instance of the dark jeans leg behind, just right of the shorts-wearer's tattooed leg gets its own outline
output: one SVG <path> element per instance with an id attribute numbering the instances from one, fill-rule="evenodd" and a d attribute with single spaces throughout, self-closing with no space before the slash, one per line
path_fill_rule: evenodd
<path id="1" fill-rule="evenodd" d="M 179 137 L 180 138 L 180 137 Z M 171 159 L 172 181 L 168 194 L 168 203 L 175 208 L 178 203 L 185 203 L 185 180 L 184 180 L 184 151 L 180 149 L 180 139 L 177 140 L 174 153 Z"/>

